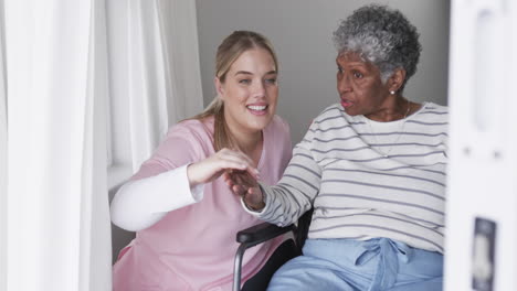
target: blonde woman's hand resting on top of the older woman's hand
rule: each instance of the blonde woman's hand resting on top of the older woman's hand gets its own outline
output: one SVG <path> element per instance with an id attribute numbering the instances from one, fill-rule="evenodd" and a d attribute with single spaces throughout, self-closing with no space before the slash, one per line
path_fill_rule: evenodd
<path id="1" fill-rule="evenodd" d="M 240 151 L 222 149 L 211 157 L 192 163 L 187 168 L 190 187 L 209 183 L 221 176 L 224 171 L 241 171 L 251 177 L 257 179 L 258 170 L 253 161 Z"/>

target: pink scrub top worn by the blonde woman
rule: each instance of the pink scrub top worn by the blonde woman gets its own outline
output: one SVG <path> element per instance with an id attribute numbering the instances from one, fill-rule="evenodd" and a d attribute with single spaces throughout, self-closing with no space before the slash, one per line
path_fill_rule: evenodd
<path id="1" fill-rule="evenodd" d="M 275 116 L 263 130 L 263 137 L 261 181 L 276 184 L 292 155 L 289 128 Z M 169 130 L 131 180 L 205 159 L 214 153 L 212 144 L 213 118 L 180 122 Z M 175 188 L 170 188 L 170 195 L 175 195 Z M 171 211 L 152 226 L 137 231 L 113 268 L 114 290 L 231 290 L 239 247 L 235 235 L 260 223 L 243 211 L 240 198 L 221 177 L 208 183 L 199 202 Z M 263 267 L 282 241 L 283 238 L 277 238 L 246 250 L 243 282 Z"/>

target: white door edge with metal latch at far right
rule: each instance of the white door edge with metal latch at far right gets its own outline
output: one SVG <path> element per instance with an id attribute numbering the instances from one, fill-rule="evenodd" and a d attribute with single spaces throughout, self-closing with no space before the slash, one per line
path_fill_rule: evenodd
<path id="1" fill-rule="evenodd" d="M 453 0 L 451 14 L 445 290 L 515 291 L 517 3 Z"/>

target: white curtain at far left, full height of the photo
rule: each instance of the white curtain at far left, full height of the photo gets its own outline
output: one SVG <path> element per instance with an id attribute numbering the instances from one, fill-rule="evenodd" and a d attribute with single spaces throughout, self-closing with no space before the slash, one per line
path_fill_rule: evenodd
<path id="1" fill-rule="evenodd" d="M 4 10 L 8 290 L 110 290 L 105 2 Z"/>

